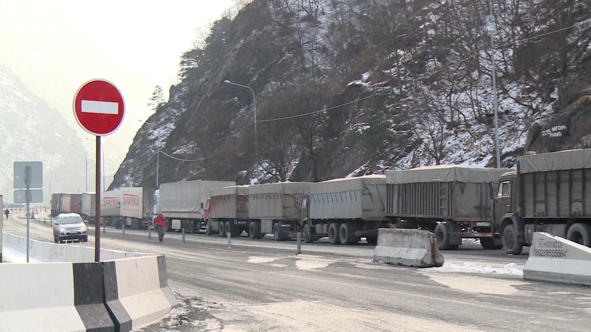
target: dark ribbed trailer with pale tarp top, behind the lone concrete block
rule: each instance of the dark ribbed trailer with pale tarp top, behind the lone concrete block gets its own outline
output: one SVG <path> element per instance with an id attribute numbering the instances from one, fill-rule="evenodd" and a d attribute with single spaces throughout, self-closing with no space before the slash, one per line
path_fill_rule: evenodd
<path id="1" fill-rule="evenodd" d="M 386 216 L 392 227 L 431 230 L 440 250 L 462 239 L 480 239 L 484 249 L 501 249 L 494 228 L 494 181 L 510 169 L 437 165 L 386 171 Z"/>

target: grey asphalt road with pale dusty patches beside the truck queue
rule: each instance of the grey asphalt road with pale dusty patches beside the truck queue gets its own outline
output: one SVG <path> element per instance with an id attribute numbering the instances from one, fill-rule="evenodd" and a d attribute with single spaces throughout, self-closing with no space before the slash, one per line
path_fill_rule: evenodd
<path id="1" fill-rule="evenodd" d="M 39 217 L 39 216 L 38 216 Z M 42 218 L 43 216 L 41 216 Z M 5 231 L 26 232 L 23 215 Z M 89 242 L 93 245 L 93 229 Z M 373 246 L 333 246 L 107 227 L 103 248 L 164 253 L 183 306 L 142 331 L 588 331 L 591 288 L 521 276 L 372 263 Z M 31 222 L 31 236 L 53 240 Z M 527 255 L 465 245 L 446 262 L 523 265 Z"/>

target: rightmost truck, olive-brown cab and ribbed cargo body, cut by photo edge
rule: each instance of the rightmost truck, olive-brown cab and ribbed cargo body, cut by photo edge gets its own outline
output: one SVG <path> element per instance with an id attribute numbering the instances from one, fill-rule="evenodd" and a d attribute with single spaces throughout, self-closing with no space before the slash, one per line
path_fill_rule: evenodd
<path id="1" fill-rule="evenodd" d="M 591 246 L 591 149 L 535 154 L 518 159 L 517 171 L 500 177 L 494 218 L 507 253 L 518 255 L 534 232 Z"/>

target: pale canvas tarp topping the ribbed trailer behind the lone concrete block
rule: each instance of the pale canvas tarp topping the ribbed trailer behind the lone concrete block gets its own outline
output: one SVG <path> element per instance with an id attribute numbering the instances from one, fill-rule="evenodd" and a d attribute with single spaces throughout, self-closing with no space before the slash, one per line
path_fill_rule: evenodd
<path id="1" fill-rule="evenodd" d="M 482 183 L 498 181 L 501 175 L 514 171 L 508 168 L 487 168 L 470 165 L 437 165 L 386 171 L 386 183 L 462 182 Z"/>

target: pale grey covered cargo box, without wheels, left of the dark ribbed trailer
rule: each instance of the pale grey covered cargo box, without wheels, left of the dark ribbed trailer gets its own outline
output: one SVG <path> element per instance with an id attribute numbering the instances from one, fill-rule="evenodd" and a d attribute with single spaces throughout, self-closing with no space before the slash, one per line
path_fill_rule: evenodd
<path id="1" fill-rule="evenodd" d="M 385 220 L 385 199 L 385 175 L 311 183 L 310 219 Z"/>

